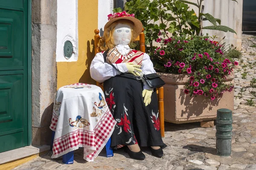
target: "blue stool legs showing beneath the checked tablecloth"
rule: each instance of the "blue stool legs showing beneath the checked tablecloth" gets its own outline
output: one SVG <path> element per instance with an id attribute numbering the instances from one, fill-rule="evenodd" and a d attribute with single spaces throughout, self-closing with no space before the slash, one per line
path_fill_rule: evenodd
<path id="1" fill-rule="evenodd" d="M 53 146 L 54 136 L 55 136 L 55 131 L 52 131 L 51 150 L 52 150 L 52 146 Z M 114 156 L 113 149 L 111 148 L 110 145 L 111 145 L 111 138 L 108 140 L 108 142 L 106 144 L 107 157 Z M 69 153 L 66 153 L 65 155 L 63 155 L 62 162 L 64 164 L 73 164 L 74 163 L 74 151 L 70 151 Z"/>

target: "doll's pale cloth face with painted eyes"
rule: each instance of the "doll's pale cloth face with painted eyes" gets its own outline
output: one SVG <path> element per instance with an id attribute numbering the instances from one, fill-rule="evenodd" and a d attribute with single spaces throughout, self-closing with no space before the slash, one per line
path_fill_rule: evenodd
<path id="1" fill-rule="evenodd" d="M 113 33 L 113 40 L 115 45 L 128 45 L 131 41 L 131 26 L 118 23 Z"/>

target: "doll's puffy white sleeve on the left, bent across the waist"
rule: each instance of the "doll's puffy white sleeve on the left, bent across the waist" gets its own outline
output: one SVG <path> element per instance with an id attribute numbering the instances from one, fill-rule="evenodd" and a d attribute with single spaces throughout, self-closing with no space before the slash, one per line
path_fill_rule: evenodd
<path id="1" fill-rule="evenodd" d="M 113 64 L 121 72 L 127 72 L 125 63 Z M 103 54 L 97 53 L 90 65 L 90 76 L 97 82 L 105 80 L 119 74 L 110 64 L 104 62 Z"/>

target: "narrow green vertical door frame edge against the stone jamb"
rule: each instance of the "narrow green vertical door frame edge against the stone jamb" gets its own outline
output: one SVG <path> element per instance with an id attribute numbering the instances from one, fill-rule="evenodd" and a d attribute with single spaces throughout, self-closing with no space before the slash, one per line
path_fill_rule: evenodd
<path id="1" fill-rule="evenodd" d="M 31 38 L 32 38 L 32 17 L 31 17 L 31 14 L 32 14 L 32 11 L 31 11 L 31 6 L 32 6 L 32 3 L 31 3 L 31 0 L 28 0 L 28 7 L 27 7 L 27 16 L 28 16 L 28 25 L 27 25 L 27 30 L 28 30 L 28 37 L 27 37 L 27 40 L 28 40 L 28 145 L 31 145 L 32 144 L 32 101 L 31 101 L 31 98 L 32 98 L 32 62 L 31 62 L 31 55 L 32 55 L 32 47 L 31 47 Z"/>

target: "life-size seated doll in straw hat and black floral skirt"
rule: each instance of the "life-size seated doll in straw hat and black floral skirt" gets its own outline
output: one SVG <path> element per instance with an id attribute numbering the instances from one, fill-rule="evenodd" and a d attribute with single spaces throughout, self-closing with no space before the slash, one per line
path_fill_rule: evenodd
<path id="1" fill-rule="evenodd" d="M 108 17 L 99 41 L 102 52 L 94 57 L 90 75 L 104 82 L 106 102 L 117 122 L 111 147 L 128 146 L 129 156 L 139 160 L 145 159 L 139 146 L 150 147 L 152 155 L 161 158 L 166 144 L 160 134 L 157 94 L 140 79 L 156 72 L 148 54 L 129 47 L 141 33 L 142 23 L 125 11 Z"/>

